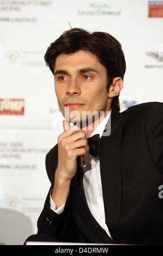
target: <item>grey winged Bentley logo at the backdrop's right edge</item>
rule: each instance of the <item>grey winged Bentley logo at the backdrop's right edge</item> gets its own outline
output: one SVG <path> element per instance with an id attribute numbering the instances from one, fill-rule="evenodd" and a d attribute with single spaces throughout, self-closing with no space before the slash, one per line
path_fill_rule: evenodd
<path id="1" fill-rule="evenodd" d="M 159 44 L 157 51 L 148 51 L 145 54 L 153 60 L 152 64 L 146 64 L 145 68 L 160 69 L 163 68 L 163 44 Z M 154 61 L 161 63 L 155 65 Z"/>

